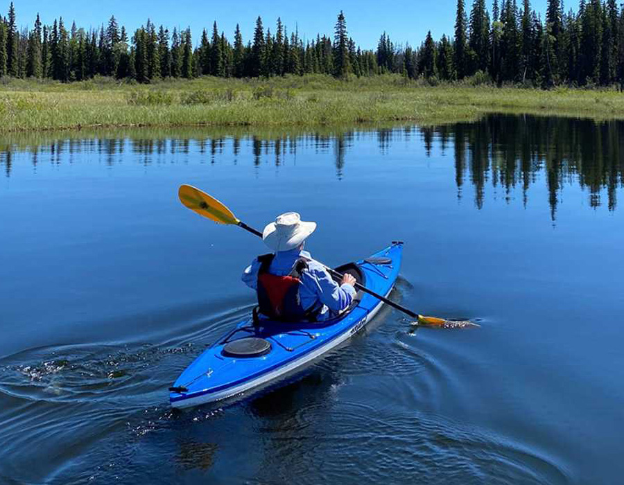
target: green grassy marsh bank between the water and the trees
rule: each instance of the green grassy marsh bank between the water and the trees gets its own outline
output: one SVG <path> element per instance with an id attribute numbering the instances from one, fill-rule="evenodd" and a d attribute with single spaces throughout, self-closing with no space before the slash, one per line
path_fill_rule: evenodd
<path id="1" fill-rule="evenodd" d="M 128 85 L 100 78 L 0 85 L 0 133 L 85 127 L 320 127 L 474 121 L 490 112 L 624 118 L 624 95 L 584 89 L 496 88 L 406 82 L 396 75 Z"/>

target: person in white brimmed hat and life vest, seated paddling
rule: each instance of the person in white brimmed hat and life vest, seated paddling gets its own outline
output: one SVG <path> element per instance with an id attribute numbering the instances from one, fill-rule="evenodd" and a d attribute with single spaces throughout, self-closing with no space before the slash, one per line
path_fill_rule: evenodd
<path id="1" fill-rule="evenodd" d="M 258 256 L 243 272 L 243 282 L 256 290 L 259 311 L 284 321 L 324 320 L 348 308 L 356 279 L 345 274 L 340 284 L 303 250 L 316 222 L 296 212 L 278 215 L 262 233 L 272 254 Z"/>

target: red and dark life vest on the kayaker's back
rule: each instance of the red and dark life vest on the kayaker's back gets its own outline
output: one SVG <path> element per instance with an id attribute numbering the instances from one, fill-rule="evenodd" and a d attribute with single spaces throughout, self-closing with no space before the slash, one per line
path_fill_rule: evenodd
<path id="1" fill-rule="evenodd" d="M 322 305 L 303 308 L 300 297 L 300 276 L 308 265 L 303 258 L 297 259 L 293 270 L 286 276 L 277 276 L 268 272 L 275 254 L 258 256 L 258 307 L 263 315 L 281 321 L 300 321 L 314 319 Z"/>

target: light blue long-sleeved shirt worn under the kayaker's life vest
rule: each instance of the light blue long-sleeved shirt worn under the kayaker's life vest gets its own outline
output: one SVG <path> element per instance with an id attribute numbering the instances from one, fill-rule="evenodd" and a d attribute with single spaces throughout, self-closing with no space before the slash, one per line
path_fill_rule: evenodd
<path id="1" fill-rule="evenodd" d="M 269 266 L 270 274 L 286 276 L 291 273 L 297 258 L 300 256 L 311 259 L 310 253 L 300 251 L 299 248 L 290 251 L 279 251 L 275 253 L 275 258 Z M 300 297 L 303 308 L 312 308 L 323 303 L 323 308 L 318 315 L 319 320 L 324 320 L 345 310 L 353 301 L 356 290 L 352 285 L 343 283 L 338 285 L 331 279 L 325 268 L 316 261 L 307 261 L 307 270 L 302 271 L 300 281 Z M 258 281 L 258 270 L 260 263 L 258 258 L 254 259 L 250 266 L 243 271 L 243 282 L 250 288 L 256 289 Z"/>

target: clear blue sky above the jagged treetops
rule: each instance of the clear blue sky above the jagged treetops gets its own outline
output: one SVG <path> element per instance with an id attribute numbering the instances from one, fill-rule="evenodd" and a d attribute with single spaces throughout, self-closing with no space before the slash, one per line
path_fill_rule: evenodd
<path id="1" fill-rule="evenodd" d="M 1 8 L 3 15 L 8 10 Z M 520 1 L 518 3 L 521 3 Z M 576 3 L 573 5 L 576 7 Z M 211 28 L 216 19 L 219 30 L 232 40 L 236 23 L 241 24 L 245 42 L 253 34 L 254 22 L 258 15 L 262 17 L 265 28 L 275 31 L 277 17 L 293 30 L 298 26 L 302 37 L 310 39 L 316 33 L 333 32 L 333 24 L 340 9 L 345 12 L 347 29 L 356 44 L 364 48 L 374 48 L 379 36 L 385 30 L 395 44 L 409 42 L 419 45 L 427 30 L 434 38 L 443 33 L 452 35 L 455 22 L 456 0 L 236 0 L 236 1 L 189 1 L 189 0 L 61 0 L 24 1 L 14 0 L 17 24 L 20 27 L 32 26 L 37 12 L 42 22 L 51 24 L 55 17 L 62 16 L 67 26 L 75 20 L 76 25 L 85 28 L 99 26 L 115 15 L 121 25 L 132 31 L 144 24 L 148 17 L 157 25 L 173 27 L 191 27 L 193 42 L 198 42 L 202 28 Z M 469 10 L 471 0 L 467 0 Z M 492 0 L 487 0 L 491 11 Z M 172 9 L 173 6 L 173 9 Z M 566 3 L 566 9 L 572 6 Z M 541 12 L 546 10 L 546 0 L 532 2 L 532 7 Z"/>

